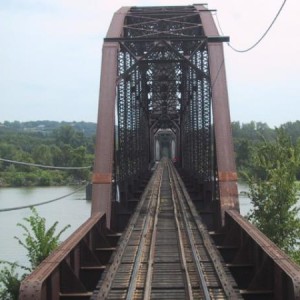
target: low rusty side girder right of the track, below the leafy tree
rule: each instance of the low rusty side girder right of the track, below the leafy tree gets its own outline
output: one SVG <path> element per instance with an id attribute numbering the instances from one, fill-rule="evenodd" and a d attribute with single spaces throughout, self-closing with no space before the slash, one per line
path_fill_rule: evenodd
<path id="1" fill-rule="evenodd" d="M 217 242 L 245 299 L 300 299 L 300 267 L 237 211 Z"/>

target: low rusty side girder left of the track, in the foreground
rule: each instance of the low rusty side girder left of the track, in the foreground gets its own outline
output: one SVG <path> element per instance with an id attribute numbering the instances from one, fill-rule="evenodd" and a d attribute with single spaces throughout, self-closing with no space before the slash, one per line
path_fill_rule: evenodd
<path id="1" fill-rule="evenodd" d="M 20 300 L 88 299 L 105 269 L 109 240 L 103 213 L 95 213 L 21 284 Z M 113 235 L 111 235 L 113 236 Z"/>

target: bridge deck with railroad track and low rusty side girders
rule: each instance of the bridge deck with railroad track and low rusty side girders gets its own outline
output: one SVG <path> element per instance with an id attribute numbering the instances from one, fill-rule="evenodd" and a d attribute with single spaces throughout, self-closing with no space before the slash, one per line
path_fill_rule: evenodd
<path id="1" fill-rule="evenodd" d="M 202 221 L 162 162 L 120 239 L 94 214 L 22 281 L 19 299 L 300 299 L 299 266 L 238 211 L 220 232 Z"/>

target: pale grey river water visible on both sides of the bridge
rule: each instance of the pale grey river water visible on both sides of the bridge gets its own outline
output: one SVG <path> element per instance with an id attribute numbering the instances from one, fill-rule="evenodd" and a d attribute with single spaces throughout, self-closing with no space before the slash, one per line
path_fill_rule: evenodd
<path id="1" fill-rule="evenodd" d="M 75 187 L 2 187 L 0 188 L 0 210 L 56 199 L 74 190 Z M 247 186 L 239 184 L 242 215 L 246 215 L 251 207 L 249 199 L 245 196 L 245 191 L 247 191 Z M 46 219 L 47 228 L 56 221 L 59 222 L 58 230 L 68 224 L 71 225 L 71 228 L 67 229 L 61 237 L 64 240 L 90 216 L 91 201 L 85 199 L 85 190 L 83 189 L 67 198 L 37 206 L 36 209 L 39 215 Z M 23 229 L 16 224 L 27 224 L 23 218 L 28 217 L 30 214 L 29 208 L 0 212 L 0 260 L 17 261 L 19 264 L 28 266 L 26 251 L 18 244 L 14 236 L 22 239 Z"/>

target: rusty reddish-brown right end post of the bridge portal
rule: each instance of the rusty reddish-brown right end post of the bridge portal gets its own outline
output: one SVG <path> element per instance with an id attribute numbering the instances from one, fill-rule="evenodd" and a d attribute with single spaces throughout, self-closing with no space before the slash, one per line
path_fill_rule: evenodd
<path id="1" fill-rule="evenodd" d="M 199 10 L 206 36 L 219 36 L 215 22 L 209 11 L 202 5 L 195 5 Z M 212 107 L 216 140 L 218 172 L 221 174 L 236 173 L 235 156 L 231 132 L 228 91 L 225 73 L 225 59 L 222 43 L 209 43 L 209 66 L 212 82 Z M 237 178 L 222 176 L 219 182 L 221 216 L 228 208 L 239 211 Z"/>

